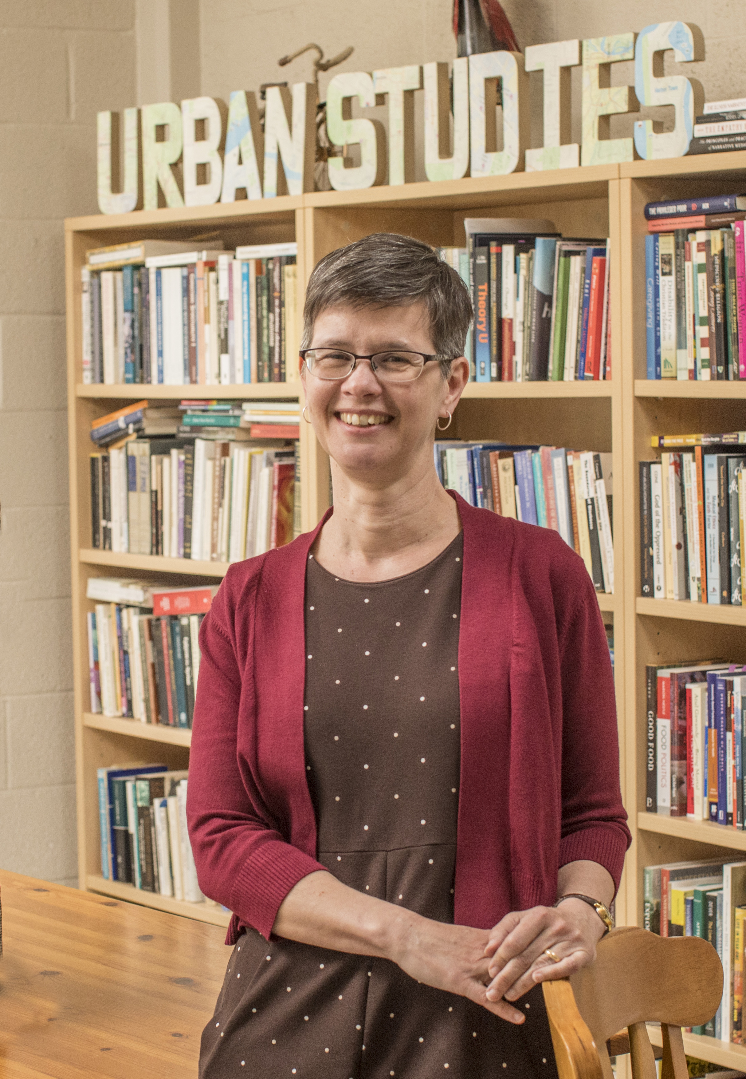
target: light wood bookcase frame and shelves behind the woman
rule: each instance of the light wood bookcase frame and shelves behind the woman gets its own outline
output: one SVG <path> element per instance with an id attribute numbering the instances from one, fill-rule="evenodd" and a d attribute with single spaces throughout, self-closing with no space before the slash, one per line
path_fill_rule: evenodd
<path id="1" fill-rule="evenodd" d="M 620 925 L 641 923 L 641 870 L 674 858 L 708 857 L 728 848 L 737 857 L 744 836 L 712 825 L 695 827 L 645 814 L 644 732 L 647 663 L 722 652 L 746 659 L 746 618 L 734 609 L 674 604 L 638 597 L 639 544 L 637 461 L 654 456 L 650 435 L 659 432 L 744 427 L 746 383 L 648 383 L 645 380 L 645 220 L 643 206 L 676 194 L 724 190 L 746 168 L 746 153 L 669 162 L 516 173 L 440 183 L 407 183 L 365 191 L 316 192 L 266 202 L 136 211 L 66 221 L 68 414 L 72 548 L 75 757 L 79 878 L 88 888 L 147 905 L 174 910 L 174 900 L 103 880 L 98 849 L 96 767 L 128 759 L 163 760 L 184 767 L 190 732 L 149 727 L 133 720 L 88 712 L 85 614 L 86 578 L 111 573 L 215 581 L 223 564 L 155 556 L 114 555 L 89 547 L 89 422 L 123 400 L 178 400 L 197 396 L 190 386 L 105 386 L 81 382 L 80 268 L 85 251 L 103 244 L 144 237 L 192 238 L 219 234 L 226 247 L 295 240 L 299 296 L 316 262 L 328 251 L 376 231 L 404 232 L 433 245 L 462 245 L 464 218 L 545 217 L 564 235 L 610 236 L 611 355 L 608 382 L 470 384 L 448 435 L 543 442 L 610 451 L 614 473 L 614 595 L 598 596 L 605 620 L 614 626 L 614 672 L 621 779 L 633 847 L 617 897 Z M 299 382 L 210 386 L 211 397 L 294 399 Z M 329 463 L 312 428 L 301 423 L 302 525 L 316 524 L 328 505 Z M 654 610 L 652 610 L 654 607 Z M 675 610 L 672 610 L 674 609 Z M 742 656 L 743 653 L 743 656 Z M 728 833 L 723 835 L 723 833 Z M 124 889 L 128 889 L 124 894 Z M 178 913 L 213 916 L 215 909 L 178 904 Z M 689 1040 L 693 1036 L 688 1036 Z M 694 1051 L 691 1048 L 689 1051 Z M 741 1054 L 741 1055 L 738 1055 Z M 746 1065 L 746 1049 L 697 1038 L 696 1055 L 731 1067 Z M 732 1063 L 738 1060 L 738 1064 Z"/>

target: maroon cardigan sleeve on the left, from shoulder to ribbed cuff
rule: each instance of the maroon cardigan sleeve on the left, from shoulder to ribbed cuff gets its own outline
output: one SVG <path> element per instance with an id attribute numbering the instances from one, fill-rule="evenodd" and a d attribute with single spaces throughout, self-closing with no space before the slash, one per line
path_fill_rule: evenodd
<path id="1" fill-rule="evenodd" d="M 326 866 L 286 841 L 245 762 L 239 766 L 245 687 L 231 631 L 234 619 L 225 616 L 227 584 L 226 578 L 199 630 L 186 818 L 202 891 L 268 940 L 290 889 Z"/>

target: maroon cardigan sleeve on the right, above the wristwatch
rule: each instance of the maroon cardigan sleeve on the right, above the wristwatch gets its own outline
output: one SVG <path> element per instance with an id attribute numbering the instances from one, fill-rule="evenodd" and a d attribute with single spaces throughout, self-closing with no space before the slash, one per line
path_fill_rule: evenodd
<path id="1" fill-rule="evenodd" d="M 632 837 L 619 784 L 613 673 L 598 601 L 584 569 L 582 577 L 580 605 L 560 633 L 560 865 L 580 860 L 598 862 L 618 888 Z"/>

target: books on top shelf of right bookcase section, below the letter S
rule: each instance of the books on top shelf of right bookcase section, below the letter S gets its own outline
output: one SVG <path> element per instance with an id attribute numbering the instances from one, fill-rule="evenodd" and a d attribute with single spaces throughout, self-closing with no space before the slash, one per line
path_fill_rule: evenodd
<path id="1" fill-rule="evenodd" d="M 649 379 L 746 379 L 746 195 L 648 203 Z"/>

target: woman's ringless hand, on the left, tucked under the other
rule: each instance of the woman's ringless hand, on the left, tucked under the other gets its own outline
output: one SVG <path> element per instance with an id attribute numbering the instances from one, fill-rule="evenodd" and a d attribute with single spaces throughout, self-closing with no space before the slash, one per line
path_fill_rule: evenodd
<path id="1" fill-rule="evenodd" d="M 489 999 L 486 994 L 489 940 L 496 930 L 432 921 L 410 911 L 401 915 L 387 957 L 410 978 L 467 997 L 510 1023 L 523 1023 L 525 1015 L 501 995 Z"/>

